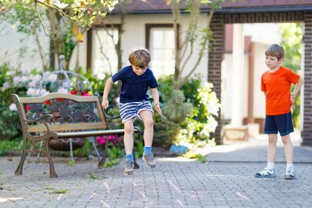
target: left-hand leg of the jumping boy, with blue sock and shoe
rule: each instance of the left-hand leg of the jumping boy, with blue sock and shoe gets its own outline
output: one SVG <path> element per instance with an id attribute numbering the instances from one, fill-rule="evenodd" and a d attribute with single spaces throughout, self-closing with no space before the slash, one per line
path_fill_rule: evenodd
<path id="1" fill-rule="evenodd" d="M 125 170 L 123 173 L 132 174 L 135 166 L 132 151 L 133 151 L 133 119 L 125 121 L 125 135 L 123 137 L 123 144 L 125 146 Z"/>

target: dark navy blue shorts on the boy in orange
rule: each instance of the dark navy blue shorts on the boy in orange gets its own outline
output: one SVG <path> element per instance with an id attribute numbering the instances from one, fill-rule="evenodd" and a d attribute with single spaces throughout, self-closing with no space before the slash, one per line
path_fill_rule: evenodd
<path id="1" fill-rule="evenodd" d="M 277 131 L 281 136 L 285 136 L 293 132 L 293 119 L 291 119 L 291 112 L 277 116 L 266 116 L 264 133 L 277 134 Z"/>

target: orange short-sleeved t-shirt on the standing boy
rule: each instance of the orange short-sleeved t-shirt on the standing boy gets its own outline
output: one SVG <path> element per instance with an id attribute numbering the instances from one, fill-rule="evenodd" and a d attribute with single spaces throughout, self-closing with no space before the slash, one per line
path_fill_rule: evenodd
<path id="1" fill-rule="evenodd" d="M 261 76 L 261 91 L 266 92 L 266 115 L 275 116 L 291 111 L 291 83 L 300 76 L 286 67 L 275 72 L 266 71 Z"/>

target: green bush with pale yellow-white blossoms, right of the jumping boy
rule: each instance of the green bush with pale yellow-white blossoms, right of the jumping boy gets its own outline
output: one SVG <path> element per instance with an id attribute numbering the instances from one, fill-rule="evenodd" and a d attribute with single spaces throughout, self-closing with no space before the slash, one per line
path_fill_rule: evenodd
<path id="1" fill-rule="evenodd" d="M 155 144 L 167 148 L 180 141 L 206 141 L 214 145 L 210 133 L 218 125 L 215 116 L 220 103 L 213 85 L 202 82 L 200 76 L 188 80 L 181 90 L 173 89 L 173 76 L 160 78 L 158 83 L 164 116 L 155 116 Z"/>

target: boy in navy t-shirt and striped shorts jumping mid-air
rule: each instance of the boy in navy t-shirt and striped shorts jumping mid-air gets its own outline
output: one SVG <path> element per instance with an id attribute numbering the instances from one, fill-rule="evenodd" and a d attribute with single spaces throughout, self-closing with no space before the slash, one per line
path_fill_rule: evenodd
<path id="1" fill-rule="evenodd" d="M 102 106 L 108 107 L 108 94 L 112 85 L 121 80 L 119 112 L 125 128 L 123 143 L 125 145 L 125 169 L 123 173 L 132 174 L 134 168 L 133 150 L 133 122 L 137 117 L 144 122 L 144 155 L 146 166 L 156 166 L 152 153 L 153 143 L 153 109 L 148 101 L 148 87 L 153 95 L 155 110 L 162 114 L 159 107 L 159 93 L 157 81 L 153 71 L 148 68 L 150 52 L 147 49 L 135 49 L 128 58 L 130 66 L 124 67 L 115 73 L 105 83 Z"/>

